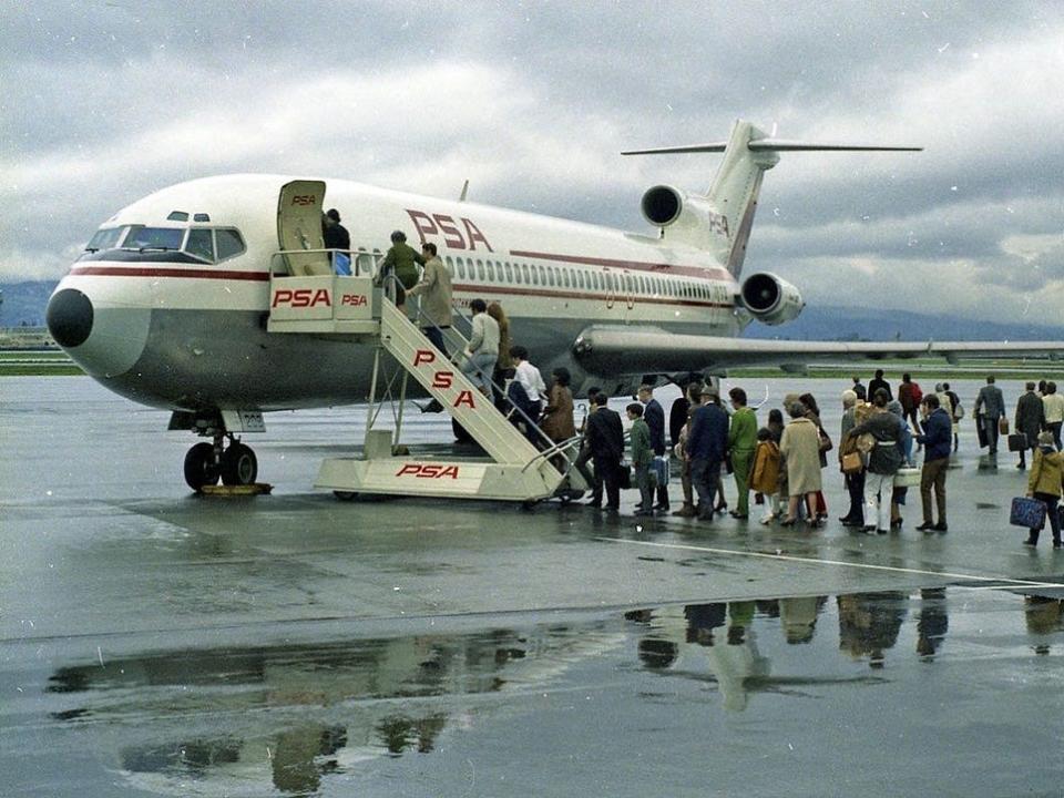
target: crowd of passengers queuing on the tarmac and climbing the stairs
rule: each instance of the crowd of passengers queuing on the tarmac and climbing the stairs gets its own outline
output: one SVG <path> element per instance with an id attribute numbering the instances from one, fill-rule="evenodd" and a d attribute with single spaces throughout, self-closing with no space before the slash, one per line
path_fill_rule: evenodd
<path id="1" fill-rule="evenodd" d="M 323 231 L 327 245 L 349 246 L 335 211 L 325 215 Z M 395 278 L 393 298 L 400 308 L 407 296 L 422 298 L 422 329 L 449 355 L 444 332 L 452 320 L 450 273 L 432 243 L 424 243 L 418 253 L 401 231 L 392 233 L 391 241 L 380 278 Z M 422 267 L 420 274 L 418 266 Z M 867 387 L 855 376 L 841 392 L 837 448 L 811 393 L 787 395 L 782 407 L 769 409 L 766 424 L 758 427 L 743 388 L 728 391 L 726 408 L 718 389 L 698 380 L 683 386 L 683 396 L 673 402 L 667 447 L 664 409 L 654 399 L 654 387 L 643 385 L 637 401 L 625 408 L 630 428 L 625 447 L 625 424 L 620 413 L 610 409 L 608 396 L 594 387 L 587 389 L 587 415 L 577 429 L 569 370 L 554 369 L 548 386 L 529 350 L 511 340 L 502 306 L 478 298 L 470 308 L 470 338 L 463 351 L 454 354 L 461 370 L 535 446 L 545 448 L 581 436 L 572 468 L 592 487 L 587 503 L 593 508 L 602 509 L 605 500 L 606 510 L 617 511 L 621 490 L 631 485 L 640 491 L 636 515 L 671 511 L 668 480 L 675 461 L 683 503 L 674 515 L 712 522 L 716 514 L 728 512 L 724 488 L 724 474 L 728 473 L 735 482 L 734 518 L 749 518 L 753 492 L 756 504 L 766 508 L 761 523 L 819 528 L 828 519 L 822 472 L 835 449 L 849 497 L 849 508 L 839 518 L 843 525 L 869 534 L 900 529 L 909 488 L 919 485 L 922 522 L 917 529 L 949 530 L 947 477 L 964 417 L 949 382 L 939 382 L 933 392 L 925 393 L 910 374 L 903 374 L 896 398 L 882 369 Z M 1004 397 L 993 376 L 980 389 L 973 416 L 980 444 L 995 460 L 1009 424 Z M 1027 382 L 1016 402 L 1015 432 L 1009 436 L 1009 448 L 1019 452 L 1019 469 L 1026 469 L 1031 457 L 1027 495 L 1045 504 L 1054 548 L 1062 545 L 1057 509 L 1064 475 L 1062 427 L 1064 395 L 1054 382 Z M 914 456 L 919 452 L 923 462 L 918 469 Z M 556 462 L 565 466 L 561 459 Z M 1026 542 L 1034 545 L 1037 540 L 1039 530 L 1032 530 Z"/>

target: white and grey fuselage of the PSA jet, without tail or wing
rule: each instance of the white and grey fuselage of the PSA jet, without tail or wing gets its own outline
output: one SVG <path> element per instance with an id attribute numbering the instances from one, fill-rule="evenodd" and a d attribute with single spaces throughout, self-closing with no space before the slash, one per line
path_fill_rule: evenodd
<path id="1" fill-rule="evenodd" d="M 229 238 L 237 231 L 243 250 L 223 256 L 217 233 L 213 259 L 155 246 L 86 253 L 53 295 L 50 326 L 69 321 L 57 339 L 103 385 L 154 407 L 277 410 L 364 401 L 370 347 L 266 331 L 270 272 L 284 268 L 278 193 L 290 180 L 197 180 L 119 212 L 101 229 L 176 231 L 175 242 L 188 242 L 181 249 L 191 248 L 186 231 L 224 229 Z M 641 377 L 624 362 L 610 374 L 582 370 L 572 346 L 590 326 L 735 336 L 744 324 L 735 276 L 702 249 L 352 182 L 327 186 L 325 205 L 339 209 L 356 254 L 386 252 L 396 229 L 415 247 L 433 242 L 452 274 L 456 300 L 500 301 L 513 341 L 545 372 L 570 368 L 577 389 L 596 382 L 614 391 Z M 76 299 L 66 303 L 76 308 L 70 319 L 57 301 L 63 291 Z"/>

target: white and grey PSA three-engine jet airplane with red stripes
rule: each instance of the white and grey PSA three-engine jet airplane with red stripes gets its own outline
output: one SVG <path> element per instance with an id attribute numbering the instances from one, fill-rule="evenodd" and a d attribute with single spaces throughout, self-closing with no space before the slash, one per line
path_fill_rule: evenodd
<path id="1" fill-rule="evenodd" d="M 1064 348 L 739 337 L 754 320 L 780 325 L 805 305 L 798 288 L 775 274 L 741 276 L 765 172 L 781 152 L 879 150 L 919 147 L 779 140 L 739 120 L 725 142 L 630 151 L 724 153 L 706 194 L 656 185 L 643 195 L 653 235 L 474 204 L 464 190 L 462 200 L 447 201 L 331 178 L 193 180 L 101 225 L 52 294 L 48 327 L 100 383 L 170 410 L 170 429 L 213 438 L 185 459 L 196 490 L 204 473 L 225 484 L 255 481 L 254 451 L 236 433 L 263 431 L 263 412 L 369 396 L 375 347 L 342 336 L 277 335 L 266 321 L 279 310 L 330 301 L 327 291 L 272 289 L 276 275 L 320 273 L 311 266 L 328 258 L 320 235 L 326 192 L 327 205 L 347 222 L 356 268 L 376 267 L 392 231 L 433 242 L 452 275 L 456 304 L 501 301 L 513 339 L 545 374 L 566 367 L 577 395 L 597 385 L 616 396 L 646 379 L 722 375 L 738 365 Z"/>

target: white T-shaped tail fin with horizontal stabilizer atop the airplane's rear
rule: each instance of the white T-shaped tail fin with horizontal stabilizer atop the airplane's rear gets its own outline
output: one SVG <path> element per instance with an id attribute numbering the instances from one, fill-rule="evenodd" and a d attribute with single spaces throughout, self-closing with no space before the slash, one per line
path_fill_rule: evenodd
<path id="1" fill-rule="evenodd" d="M 723 247 L 728 272 L 738 277 L 746 257 L 746 244 L 754 225 L 757 198 L 765 172 L 779 162 L 781 152 L 919 152 L 923 147 L 878 146 L 872 144 L 817 144 L 766 136 L 749 122 L 737 120 L 726 142 L 689 144 L 685 146 L 630 150 L 623 155 L 657 155 L 671 153 L 723 152 L 724 161 L 706 193 L 705 200 L 724 216 L 727 244 Z"/>

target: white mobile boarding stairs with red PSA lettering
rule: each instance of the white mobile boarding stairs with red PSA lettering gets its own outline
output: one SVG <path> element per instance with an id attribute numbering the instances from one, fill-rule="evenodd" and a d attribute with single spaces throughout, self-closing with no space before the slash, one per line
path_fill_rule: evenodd
<path id="1" fill-rule="evenodd" d="M 325 460 L 315 487 L 332 490 L 342 498 L 395 494 L 530 503 L 554 495 L 567 475 L 554 462 L 571 462 L 575 442 L 543 451 L 533 446 L 499 411 L 491 397 L 484 396 L 383 294 L 367 276 L 274 275 L 272 278 L 267 321 L 270 332 L 336 336 L 375 347 L 374 387 L 362 457 Z M 297 301 L 288 301 L 293 297 Z M 313 303 L 314 297 L 319 301 Z M 294 307 L 297 304 L 300 307 Z M 449 332 L 449 344 L 464 347 L 467 341 L 457 329 Z M 372 429 L 383 355 L 390 356 L 406 372 L 396 430 Z M 415 458 L 398 453 L 405 452 L 399 446 L 399 428 L 407 376 L 469 432 L 487 458 Z M 573 481 L 579 481 L 575 472 Z M 576 485 L 583 487 L 582 482 Z"/>

